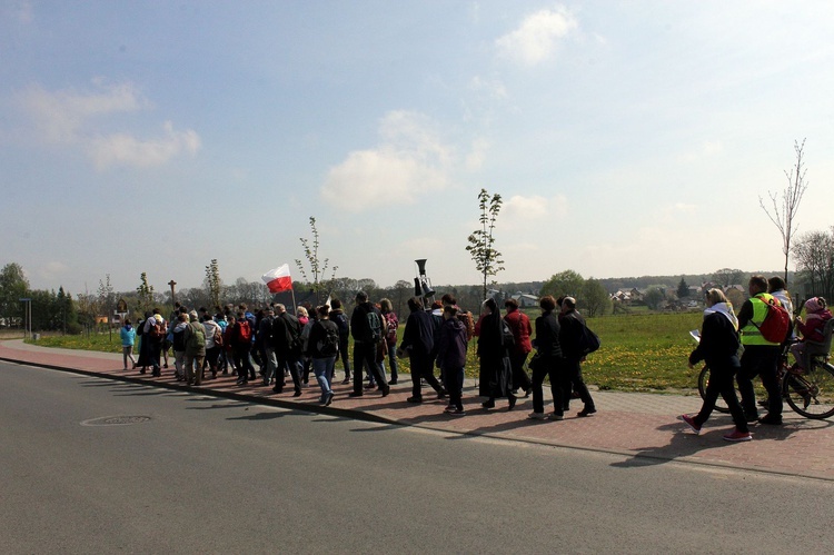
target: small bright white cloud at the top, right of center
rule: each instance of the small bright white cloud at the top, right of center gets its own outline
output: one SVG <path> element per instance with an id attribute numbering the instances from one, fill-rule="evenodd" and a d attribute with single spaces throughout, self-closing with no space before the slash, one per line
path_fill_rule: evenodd
<path id="1" fill-rule="evenodd" d="M 518 29 L 497 39 L 495 46 L 504 58 L 536 66 L 549 59 L 559 40 L 578 27 L 565 8 L 545 9 L 528 16 Z"/>

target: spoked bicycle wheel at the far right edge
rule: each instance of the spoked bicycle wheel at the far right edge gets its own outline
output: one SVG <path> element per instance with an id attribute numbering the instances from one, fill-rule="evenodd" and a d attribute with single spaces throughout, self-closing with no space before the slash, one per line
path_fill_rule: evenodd
<path id="1" fill-rule="evenodd" d="M 834 366 L 814 360 L 807 371 L 788 371 L 782 393 L 788 406 L 805 418 L 828 418 L 834 415 Z"/>

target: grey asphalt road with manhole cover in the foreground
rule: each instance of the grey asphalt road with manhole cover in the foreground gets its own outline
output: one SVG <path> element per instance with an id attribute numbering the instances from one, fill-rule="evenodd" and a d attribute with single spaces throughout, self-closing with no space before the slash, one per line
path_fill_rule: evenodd
<path id="1" fill-rule="evenodd" d="M 834 539 L 823 480 L 1 363 L 0 378 L 3 554 L 830 553 Z"/>

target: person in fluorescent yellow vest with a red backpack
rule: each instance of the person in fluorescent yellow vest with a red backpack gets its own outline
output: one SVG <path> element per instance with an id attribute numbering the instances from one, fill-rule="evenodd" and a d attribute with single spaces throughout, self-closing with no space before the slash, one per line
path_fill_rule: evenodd
<path id="1" fill-rule="evenodd" d="M 782 392 L 780 392 L 778 359 L 782 355 L 782 340 L 787 335 L 787 327 L 781 330 L 781 336 L 772 333 L 773 324 L 784 311 L 780 301 L 767 291 L 767 279 L 764 276 L 753 276 L 747 284 L 749 298 L 744 301 L 738 311 L 738 328 L 742 334 L 742 369 L 738 373 L 738 392 L 742 394 L 742 407 L 747 422 L 758 420 L 761 424 L 778 426 L 782 424 Z M 772 315 L 771 310 L 776 310 Z M 770 321 L 768 321 L 770 320 Z M 778 336 L 778 330 L 776 330 Z M 770 337 L 766 337 L 770 336 Z M 767 390 L 767 414 L 758 418 L 756 409 L 756 394 L 753 390 L 753 378 L 759 376 L 762 385 Z"/>

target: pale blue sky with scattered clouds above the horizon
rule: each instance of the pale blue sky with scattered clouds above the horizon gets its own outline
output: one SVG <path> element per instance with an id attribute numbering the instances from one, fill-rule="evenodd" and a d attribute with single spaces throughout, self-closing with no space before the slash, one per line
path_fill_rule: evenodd
<path id="1" fill-rule="evenodd" d="M 478 284 L 784 266 L 832 225 L 828 1 L 0 0 L 0 265 L 200 287 L 319 258 Z M 307 266 L 305 261 L 305 266 Z M 793 264 L 792 264 L 793 269 Z M 328 270 L 325 277 L 330 277 Z"/>

